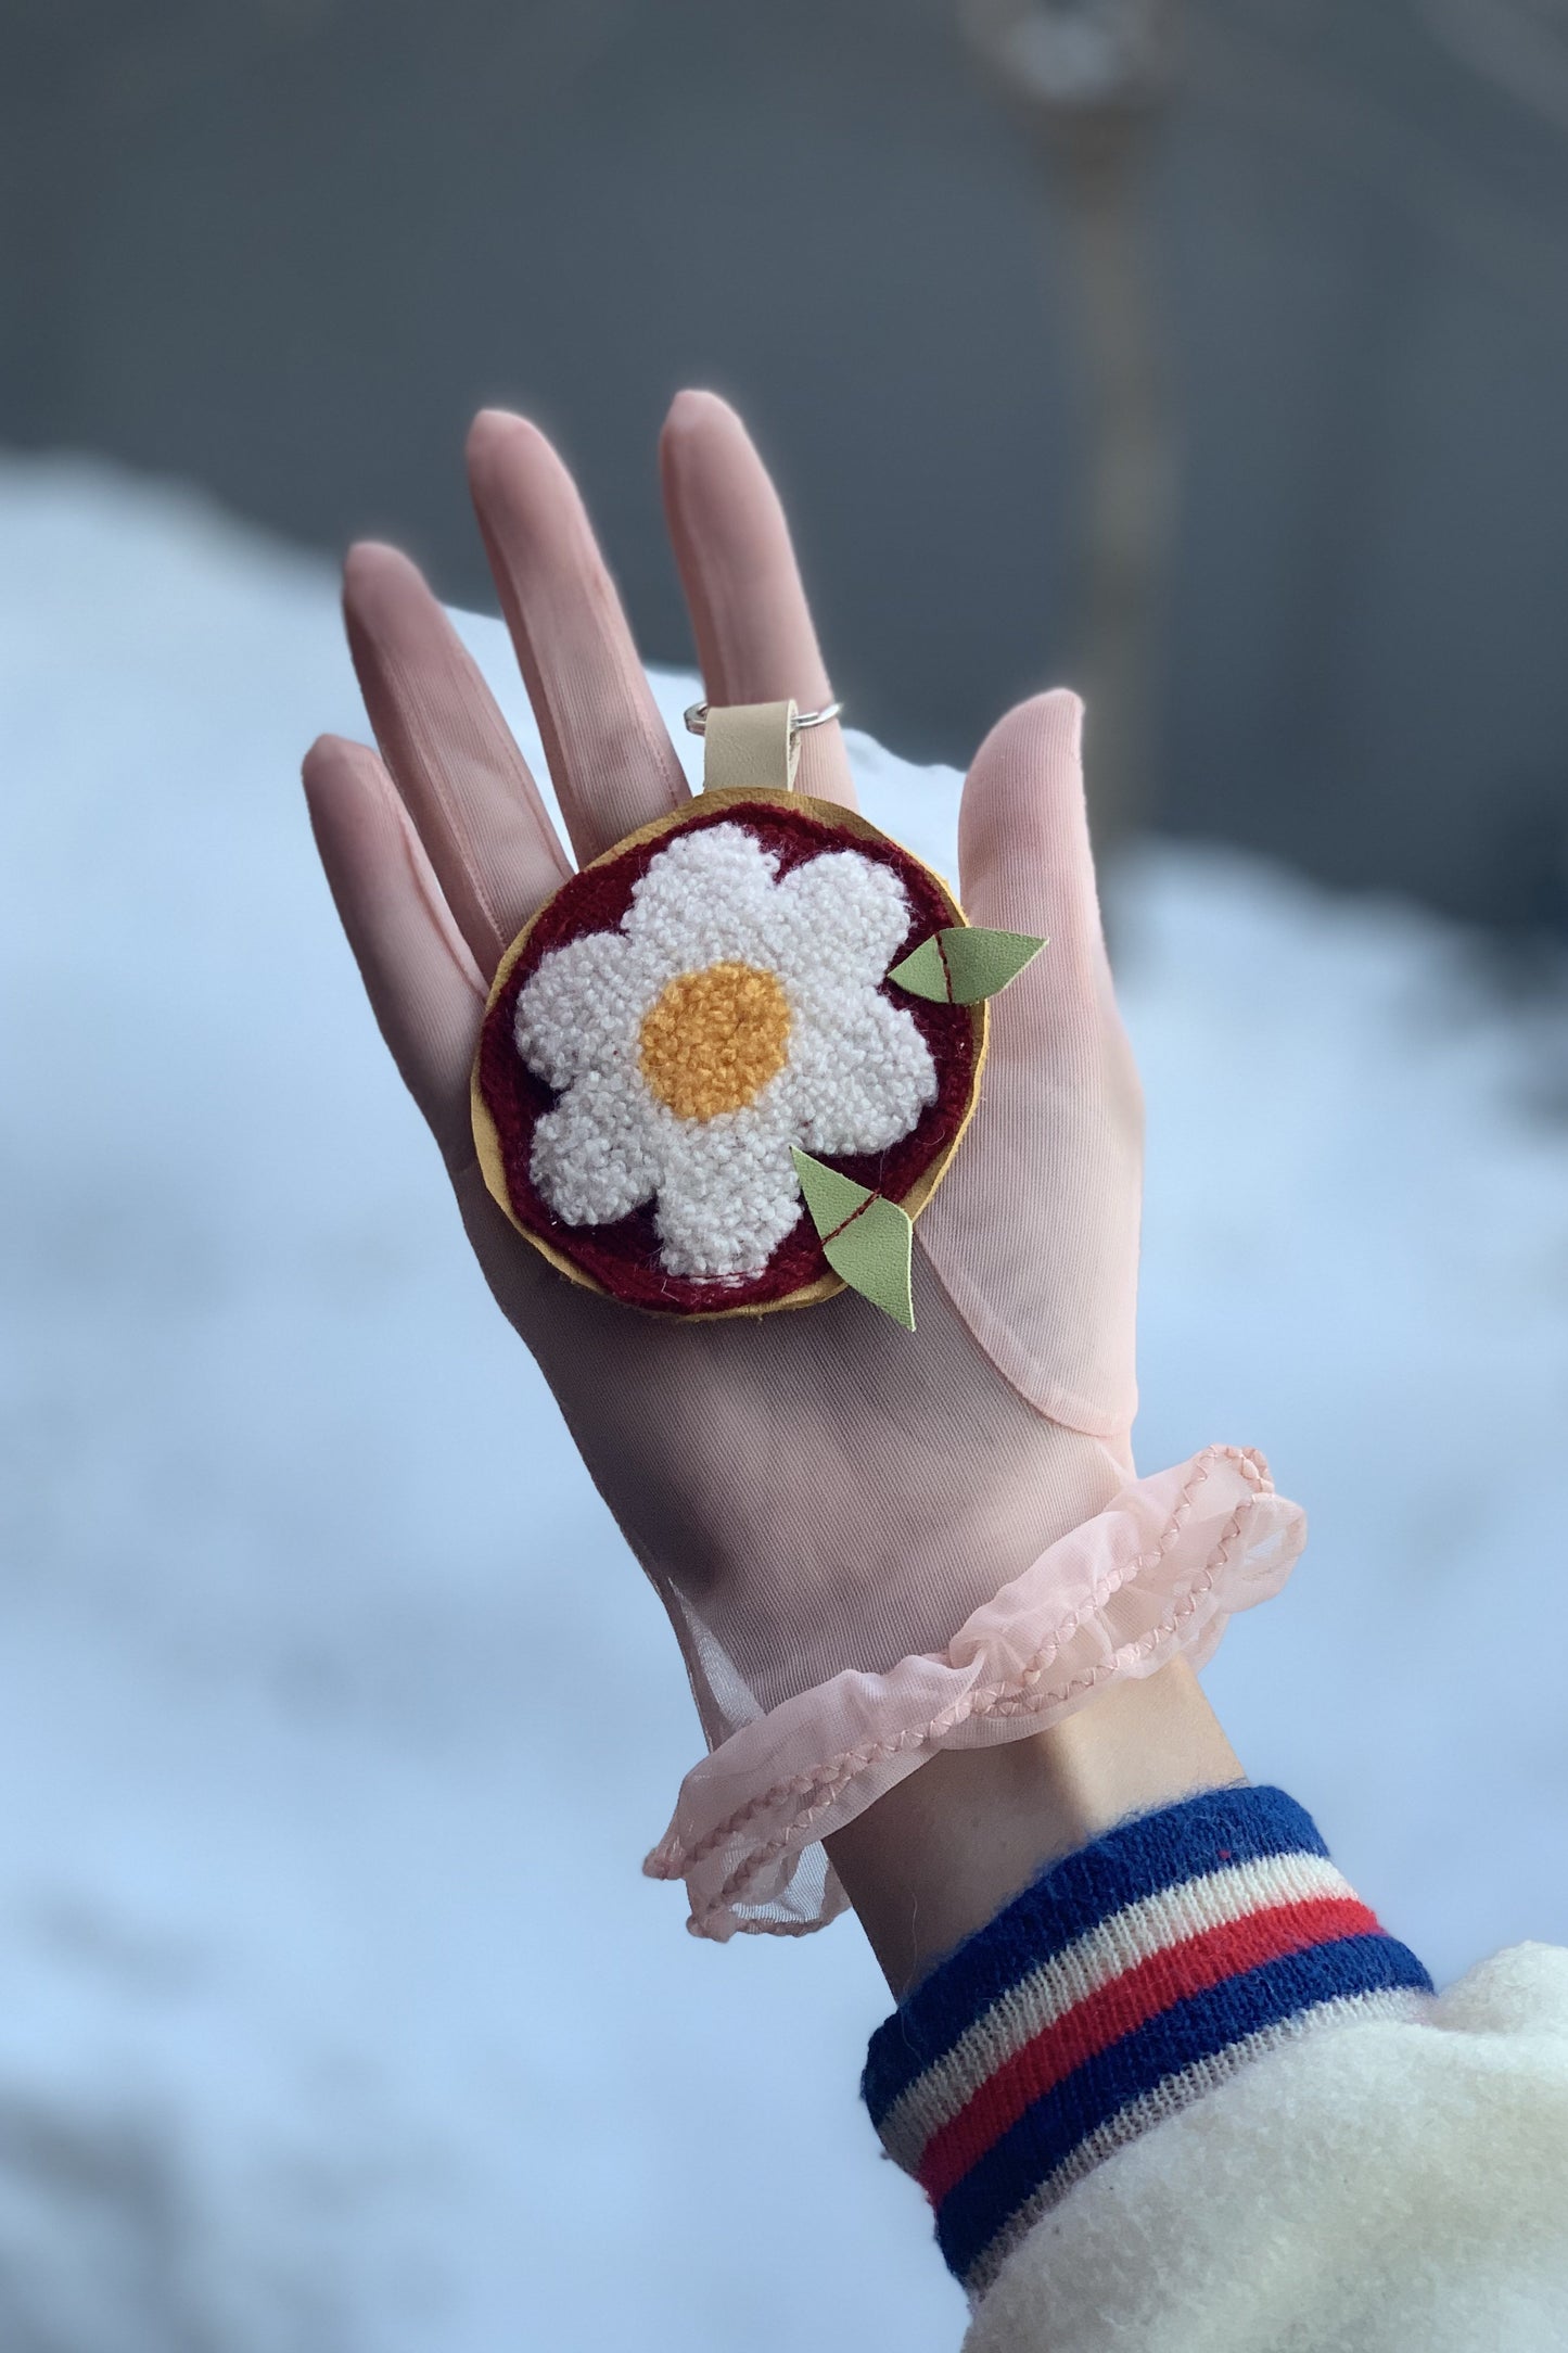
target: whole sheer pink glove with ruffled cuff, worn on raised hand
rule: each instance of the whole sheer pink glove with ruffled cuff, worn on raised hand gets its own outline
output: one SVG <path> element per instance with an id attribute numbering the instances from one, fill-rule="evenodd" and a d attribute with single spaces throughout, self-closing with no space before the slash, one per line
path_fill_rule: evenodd
<path id="1" fill-rule="evenodd" d="M 682 393 L 663 464 L 708 696 L 827 701 L 736 416 Z M 597 856 L 679 805 L 682 769 L 555 452 L 487 414 L 470 475 L 571 845 Z M 842 1908 L 823 1835 L 933 1748 L 1051 1725 L 1178 1649 L 1201 1661 L 1302 1541 L 1255 1454 L 1133 1475 L 1143 1104 L 1079 706 L 1013 711 L 964 788 L 966 913 L 1051 946 L 992 1007 L 980 1108 L 914 1228 L 914 1337 L 853 1292 L 677 1322 L 571 1287 L 484 1191 L 468 1068 L 487 981 L 569 866 L 414 567 L 355 551 L 346 609 L 386 769 L 313 748 L 327 875 L 480 1264 L 670 1612 L 712 1748 L 649 1868 L 686 1878 L 703 1934 L 816 1927 Z M 799 788 L 853 798 L 837 727 L 804 736 Z M 585 1687 L 592 1668 L 576 1664 Z"/>

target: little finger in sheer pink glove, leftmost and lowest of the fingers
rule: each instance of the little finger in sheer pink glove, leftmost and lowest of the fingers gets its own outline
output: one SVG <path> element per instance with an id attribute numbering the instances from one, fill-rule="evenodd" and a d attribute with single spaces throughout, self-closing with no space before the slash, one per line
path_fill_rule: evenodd
<path id="1" fill-rule="evenodd" d="M 374 751 L 320 736 L 303 779 L 315 847 L 381 1035 L 456 1172 L 473 1158 L 468 1068 L 484 979 Z"/>

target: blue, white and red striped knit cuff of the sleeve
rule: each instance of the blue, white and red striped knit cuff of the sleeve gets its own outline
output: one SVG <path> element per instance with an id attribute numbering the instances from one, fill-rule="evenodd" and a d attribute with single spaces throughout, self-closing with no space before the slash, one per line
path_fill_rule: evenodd
<path id="1" fill-rule="evenodd" d="M 1215 1788 L 1053 1864 L 877 2028 L 863 2097 L 971 2297 L 1074 2181 L 1331 2017 L 1432 1979 L 1279 1788 Z"/>

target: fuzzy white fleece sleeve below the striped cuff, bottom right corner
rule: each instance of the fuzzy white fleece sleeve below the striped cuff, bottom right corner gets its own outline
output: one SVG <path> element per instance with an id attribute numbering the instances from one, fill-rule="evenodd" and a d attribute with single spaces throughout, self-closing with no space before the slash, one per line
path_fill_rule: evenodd
<path id="1" fill-rule="evenodd" d="M 1079 2181 L 964 2353 L 1568 2353 L 1568 1951 L 1312 2024 Z"/>

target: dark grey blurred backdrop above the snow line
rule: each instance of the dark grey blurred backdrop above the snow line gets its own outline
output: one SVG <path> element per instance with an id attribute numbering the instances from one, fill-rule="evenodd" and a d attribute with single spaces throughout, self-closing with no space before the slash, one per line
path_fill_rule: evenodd
<path id="1" fill-rule="evenodd" d="M 458 449 L 517 405 L 675 659 L 649 452 L 710 381 L 875 734 L 961 765 L 1110 661 L 1138 821 L 1568 925 L 1563 0 L 12 0 L 0 38 L 14 447 L 393 534 L 489 607 Z"/>

